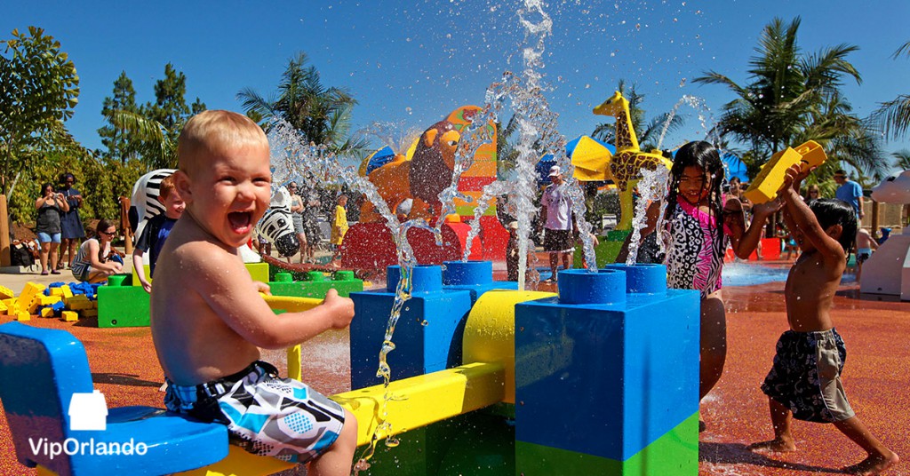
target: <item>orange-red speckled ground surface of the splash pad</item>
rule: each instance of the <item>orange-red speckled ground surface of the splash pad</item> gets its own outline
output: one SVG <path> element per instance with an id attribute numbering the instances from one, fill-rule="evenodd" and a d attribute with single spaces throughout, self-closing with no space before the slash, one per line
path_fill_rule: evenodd
<path id="1" fill-rule="evenodd" d="M 785 277 L 788 265 L 737 264 L 733 269 L 760 272 L 759 268 L 773 268 Z M 499 264 L 496 268 L 494 277 L 504 279 L 504 270 Z M 833 426 L 802 421 L 794 424 L 798 451 L 763 456 L 745 450 L 749 443 L 772 435 L 767 400 L 758 386 L 771 366 L 774 342 L 786 329 L 783 289 L 781 281 L 746 287 L 728 283 L 724 287 L 728 358 L 723 378 L 702 403 L 707 430 L 700 435 L 699 474 L 836 473 L 864 458 L 863 451 Z M 841 286 L 834 305 L 834 321 L 848 349 L 844 387 L 854 410 L 887 446 L 899 455 L 910 455 L 910 441 L 905 438 L 910 415 L 895 410 L 904 408 L 907 400 L 904 390 L 910 381 L 910 349 L 905 340 L 893 338 L 910 332 L 910 305 L 860 300 L 852 279 Z M 0 323 L 9 320 L 0 317 Z M 163 406 L 163 394 L 157 391 L 163 376 L 147 328 L 97 329 L 86 319 L 74 325 L 35 318 L 29 324 L 66 329 L 83 341 L 96 389 L 105 393 L 108 407 Z M 348 342 L 347 331 L 332 331 L 305 343 L 304 380 L 329 394 L 349 390 Z M 282 371 L 283 356 L 283 350 L 263 353 L 265 360 L 277 361 Z M 379 451 L 396 450 L 380 445 Z M 0 476 L 34 473 L 15 461 L 5 416 L 0 414 Z M 905 461 L 885 472 L 908 473 L 910 465 Z"/>

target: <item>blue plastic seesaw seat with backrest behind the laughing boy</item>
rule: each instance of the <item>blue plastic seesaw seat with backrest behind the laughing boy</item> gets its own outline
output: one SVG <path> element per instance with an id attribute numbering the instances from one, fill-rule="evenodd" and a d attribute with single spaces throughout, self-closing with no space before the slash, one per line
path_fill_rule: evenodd
<path id="1" fill-rule="evenodd" d="M 86 349 L 66 330 L 18 322 L 0 326 L 0 400 L 13 433 L 18 461 L 57 474 L 157 475 L 188 471 L 227 456 L 227 427 L 152 407 L 108 410 L 106 430 L 70 430 L 74 393 L 91 393 Z M 51 458 L 43 443 L 72 439 L 80 451 Z M 145 454 L 91 454 L 91 445 L 133 441 Z M 88 443 L 88 445 L 86 445 Z M 37 454 L 35 454 L 37 449 Z M 85 450 L 85 451 L 82 451 Z"/>

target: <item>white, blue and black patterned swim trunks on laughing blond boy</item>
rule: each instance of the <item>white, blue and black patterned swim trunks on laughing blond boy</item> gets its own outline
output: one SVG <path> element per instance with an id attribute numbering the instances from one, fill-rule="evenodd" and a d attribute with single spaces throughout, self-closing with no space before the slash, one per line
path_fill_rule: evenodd
<path id="1" fill-rule="evenodd" d="M 344 426 L 338 403 L 305 383 L 279 379 L 278 370 L 261 360 L 200 385 L 167 380 L 165 406 L 226 424 L 230 442 L 245 451 L 299 463 L 326 451 Z"/>

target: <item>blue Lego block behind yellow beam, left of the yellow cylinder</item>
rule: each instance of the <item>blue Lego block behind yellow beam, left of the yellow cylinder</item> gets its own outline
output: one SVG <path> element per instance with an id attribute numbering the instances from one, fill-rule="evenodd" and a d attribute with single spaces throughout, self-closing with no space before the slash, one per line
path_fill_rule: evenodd
<path id="1" fill-rule="evenodd" d="M 382 383 L 376 376 L 379 350 L 395 302 L 400 268 L 389 267 L 385 291 L 352 292 L 355 317 L 350 325 L 351 388 Z M 461 363 L 461 331 L 471 307 L 470 292 L 443 289 L 439 266 L 418 266 L 411 298 L 401 308 L 389 352 L 392 379 L 450 369 Z"/>

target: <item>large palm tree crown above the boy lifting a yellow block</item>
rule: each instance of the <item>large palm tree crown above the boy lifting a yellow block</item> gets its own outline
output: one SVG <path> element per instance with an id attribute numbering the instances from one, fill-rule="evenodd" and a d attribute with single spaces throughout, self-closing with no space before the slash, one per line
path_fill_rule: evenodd
<path id="1" fill-rule="evenodd" d="M 875 131 L 852 114 L 840 95 L 844 77 L 862 84 L 846 59 L 858 47 L 841 44 L 805 55 L 797 46 L 799 25 L 799 17 L 786 25 L 774 18 L 764 27 L 749 61 L 748 85 L 714 71 L 694 82 L 724 85 L 736 95 L 723 106 L 720 127 L 724 135 L 751 146 L 755 167 L 784 147 L 813 139 L 835 159 L 829 167 L 844 160 L 857 171 L 879 171 L 885 164 Z"/>

